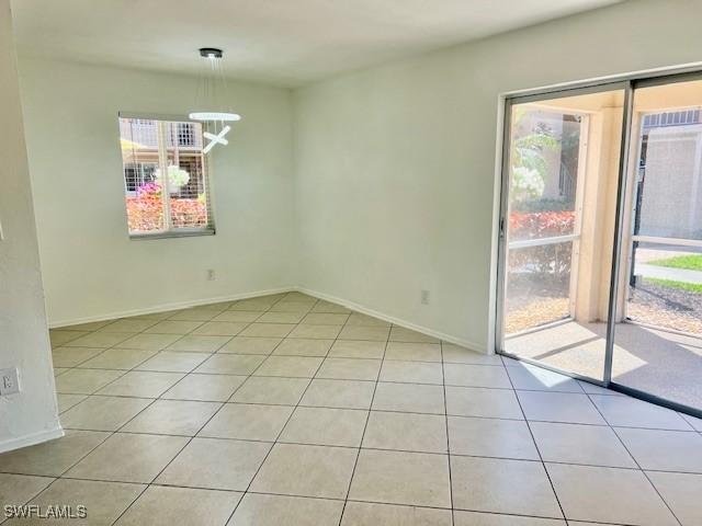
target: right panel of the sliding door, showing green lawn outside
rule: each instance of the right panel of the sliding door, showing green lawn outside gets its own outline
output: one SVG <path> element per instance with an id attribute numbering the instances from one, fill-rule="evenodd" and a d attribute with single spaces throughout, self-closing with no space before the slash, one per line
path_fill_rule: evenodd
<path id="1" fill-rule="evenodd" d="M 612 381 L 702 409 L 702 80 L 634 88 Z"/>

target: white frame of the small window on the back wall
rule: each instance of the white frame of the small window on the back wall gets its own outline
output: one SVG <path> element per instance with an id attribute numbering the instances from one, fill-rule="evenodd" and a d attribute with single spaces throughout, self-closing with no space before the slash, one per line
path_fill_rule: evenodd
<path id="1" fill-rule="evenodd" d="M 201 123 L 199 121 L 192 121 L 186 116 L 182 115 L 163 115 L 163 114 L 152 114 L 152 113 L 144 113 L 144 112 L 118 112 L 117 114 L 117 123 L 121 118 L 138 118 L 144 121 L 156 121 L 158 126 L 158 164 L 161 169 L 161 173 L 168 173 L 168 148 L 166 146 L 166 124 L 167 123 L 195 123 L 200 124 L 203 127 L 203 130 L 206 130 L 206 123 Z M 194 236 L 214 236 L 216 233 L 215 221 L 214 221 L 214 203 L 212 197 L 212 178 L 211 178 L 211 168 L 208 162 L 208 153 L 202 153 L 202 170 L 203 170 L 203 185 L 205 187 L 205 199 L 207 207 L 207 225 L 205 227 L 196 227 L 196 228 L 173 228 L 171 225 L 171 207 L 170 207 L 170 192 L 168 188 L 168 176 L 161 178 L 163 180 L 163 188 L 161 192 L 161 203 L 163 207 L 163 225 L 166 228 L 163 230 L 152 230 L 152 231 L 131 231 L 127 222 L 127 235 L 129 239 L 134 240 L 145 240 L 145 239 L 166 239 L 166 238 L 184 238 L 184 237 L 194 237 Z M 126 211 L 126 181 L 124 181 L 124 161 L 122 161 L 122 180 L 125 184 L 125 211 Z"/>

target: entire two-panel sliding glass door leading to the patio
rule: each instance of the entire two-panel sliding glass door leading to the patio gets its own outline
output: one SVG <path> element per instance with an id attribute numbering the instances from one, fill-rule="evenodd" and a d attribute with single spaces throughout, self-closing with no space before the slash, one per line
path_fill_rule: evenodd
<path id="1" fill-rule="evenodd" d="M 497 351 L 702 411 L 702 77 L 507 101 Z"/>

